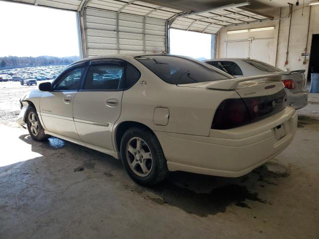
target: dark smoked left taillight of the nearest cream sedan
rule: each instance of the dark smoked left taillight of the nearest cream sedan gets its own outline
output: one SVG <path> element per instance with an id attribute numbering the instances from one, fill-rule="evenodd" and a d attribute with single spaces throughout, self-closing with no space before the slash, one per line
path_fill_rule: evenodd
<path id="1" fill-rule="evenodd" d="M 217 108 L 211 128 L 228 129 L 248 124 L 247 108 L 242 99 L 224 100 Z"/>

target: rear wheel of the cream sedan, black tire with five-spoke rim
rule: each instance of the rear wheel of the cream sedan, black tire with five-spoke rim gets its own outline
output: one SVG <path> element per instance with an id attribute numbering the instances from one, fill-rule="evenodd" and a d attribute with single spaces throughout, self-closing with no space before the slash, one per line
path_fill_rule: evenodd
<path id="1" fill-rule="evenodd" d="M 135 152 L 132 152 L 134 147 Z M 122 163 L 136 183 L 153 186 L 168 175 L 166 158 L 160 142 L 147 128 L 128 129 L 122 137 L 120 150 Z"/>

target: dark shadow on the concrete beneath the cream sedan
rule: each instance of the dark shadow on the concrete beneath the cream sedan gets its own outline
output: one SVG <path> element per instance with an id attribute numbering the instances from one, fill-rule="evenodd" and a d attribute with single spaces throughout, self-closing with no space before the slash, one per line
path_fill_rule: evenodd
<path id="1" fill-rule="evenodd" d="M 86 159 L 79 159 L 79 166 L 73 169 L 74 173 L 94 169 L 98 160 L 104 160 L 104 162 L 109 161 L 107 165 L 102 164 L 102 167 L 105 167 L 106 170 L 100 170 L 104 171 L 106 178 L 113 178 L 117 175 L 109 171 L 110 167 L 108 165 L 112 164 L 111 167 L 113 168 L 121 167 L 120 160 L 114 158 L 106 159 L 106 155 L 103 153 L 56 137 L 50 137 L 43 142 L 32 140 L 28 134 L 23 134 L 19 138 L 31 144 L 32 151 L 42 155 L 47 150 L 54 150 L 54 153 L 59 153 L 59 149 L 68 147 L 70 150 L 67 153 L 60 152 L 60 156 L 66 157 L 66 160 L 69 153 L 86 153 L 88 157 Z M 276 187 L 285 178 L 289 177 L 289 171 L 289 168 L 281 164 L 269 162 L 239 178 L 171 172 L 167 180 L 153 188 L 134 184 L 128 176 L 126 178 L 119 176 L 116 177 L 116 180 L 120 182 L 119 185 L 121 187 L 124 187 L 128 191 L 136 192 L 139 197 L 143 197 L 146 200 L 151 200 L 160 205 L 177 207 L 189 214 L 206 217 L 208 215 L 223 213 L 228 206 L 233 205 L 246 209 L 252 208 L 252 202 L 271 205 L 272 202 L 260 198 L 259 193 L 261 191 L 273 190 L 273 187 Z"/>

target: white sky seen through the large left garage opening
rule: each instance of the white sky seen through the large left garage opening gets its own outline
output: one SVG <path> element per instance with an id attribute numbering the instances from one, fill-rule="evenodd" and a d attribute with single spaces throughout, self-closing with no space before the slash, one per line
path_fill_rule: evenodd
<path id="1" fill-rule="evenodd" d="M 0 56 L 78 56 L 75 12 L 0 1 Z"/>

